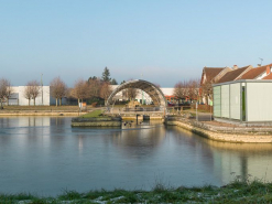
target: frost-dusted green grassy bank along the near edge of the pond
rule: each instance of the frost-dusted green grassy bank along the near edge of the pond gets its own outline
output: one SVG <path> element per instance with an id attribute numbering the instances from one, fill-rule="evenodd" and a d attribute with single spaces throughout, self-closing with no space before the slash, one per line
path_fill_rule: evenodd
<path id="1" fill-rule="evenodd" d="M 0 203 L 272 203 L 272 183 L 236 180 L 222 187 L 207 185 L 177 189 L 157 184 L 152 191 L 67 191 L 56 197 L 0 194 Z"/>

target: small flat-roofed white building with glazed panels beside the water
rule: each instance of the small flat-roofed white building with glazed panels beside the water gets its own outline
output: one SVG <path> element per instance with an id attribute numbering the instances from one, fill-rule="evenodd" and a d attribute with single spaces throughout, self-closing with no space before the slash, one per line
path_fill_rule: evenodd
<path id="1" fill-rule="evenodd" d="M 272 80 L 240 79 L 214 85 L 214 117 L 239 122 L 272 122 Z"/>

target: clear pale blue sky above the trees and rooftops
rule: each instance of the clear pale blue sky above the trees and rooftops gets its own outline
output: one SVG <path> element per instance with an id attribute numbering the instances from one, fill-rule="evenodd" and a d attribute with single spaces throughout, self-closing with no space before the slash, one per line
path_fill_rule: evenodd
<path id="1" fill-rule="evenodd" d="M 204 66 L 272 63 L 270 0 L 0 0 L 0 78 L 200 78 Z M 260 58 L 263 58 L 261 61 Z"/>

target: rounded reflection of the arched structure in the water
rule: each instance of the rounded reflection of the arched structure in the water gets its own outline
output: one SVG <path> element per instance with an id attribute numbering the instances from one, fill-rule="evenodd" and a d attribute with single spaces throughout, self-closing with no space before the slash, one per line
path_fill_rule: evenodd
<path id="1" fill-rule="evenodd" d="M 161 122 L 135 125 L 122 129 L 121 133 L 112 137 L 112 143 L 123 153 L 132 158 L 145 157 L 156 149 L 165 138 L 165 128 Z"/>

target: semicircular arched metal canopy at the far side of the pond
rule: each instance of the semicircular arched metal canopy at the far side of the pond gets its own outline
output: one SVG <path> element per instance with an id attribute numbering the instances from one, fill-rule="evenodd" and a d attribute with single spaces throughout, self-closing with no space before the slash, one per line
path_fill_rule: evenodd
<path id="1" fill-rule="evenodd" d="M 156 87 L 154 84 L 142 80 L 142 79 L 134 79 L 134 80 L 129 80 L 126 82 L 121 85 L 119 85 L 109 96 L 106 106 L 111 106 L 113 104 L 113 97 L 116 96 L 117 93 L 127 89 L 127 88 L 137 88 L 145 92 L 151 99 L 153 100 L 154 105 L 157 107 L 161 107 L 161 109 L 164 109 L 167 107 L 167 100 L 164 97 L 164 94 L 162 90 Z"/>

